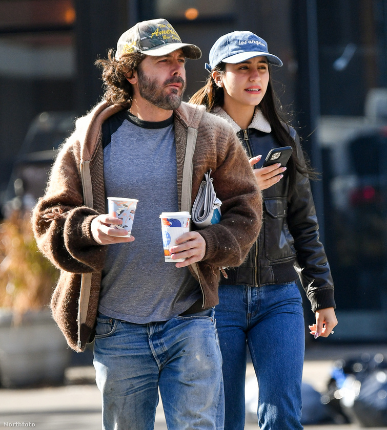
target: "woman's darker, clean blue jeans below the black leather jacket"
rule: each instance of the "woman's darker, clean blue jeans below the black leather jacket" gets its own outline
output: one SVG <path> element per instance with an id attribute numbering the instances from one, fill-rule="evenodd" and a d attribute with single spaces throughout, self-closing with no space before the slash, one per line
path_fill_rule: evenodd
<path id="1" fill-rule="evenodd" d="M 261 430 L 302 429 L 305 332 L 297 285 L 220 285 L 215 314 L 223 359 L 225 430 L 245 428 L 246 342 L 258 378 Z"/>

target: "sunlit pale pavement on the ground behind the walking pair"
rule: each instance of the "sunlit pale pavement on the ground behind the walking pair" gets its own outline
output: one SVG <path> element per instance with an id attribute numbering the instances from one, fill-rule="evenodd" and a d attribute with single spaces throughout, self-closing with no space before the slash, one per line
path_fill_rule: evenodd
<path id="1" fill-rule="evenodd" d="M 321 358 L 318 351 L 310 351 L 305 357 L 303 381 L 322 391 L 330 377 L 334 360 L 344 351 L 336 348 L 330 358 Z M 348 351 L 347 351 L 348 352 Z M 382 352 L 380 348 L 378 352 Z M 356 353 L 361 349 L 356 348 Z M 353 355 L 353 354 L 352 354 Z M 248 364 L 247 376 L 253 375 Z M 36 430 L 98 430 L 101 428 L 100 393 L 94 382 L 92 366 L 69 368 L 66 383 L 31 389 L 0 389 L 0 429 L 7 427 L 34 427 Z M 359 430 L 356 424 L 308 425 L 305 430 Z M 257 430 L 256 424 L 247 423 L 245 430 Z M 155 430 L 167 430 L 162 405 L 156 413 Z M 374 427 L 374 430 L 381 428 Z"/>

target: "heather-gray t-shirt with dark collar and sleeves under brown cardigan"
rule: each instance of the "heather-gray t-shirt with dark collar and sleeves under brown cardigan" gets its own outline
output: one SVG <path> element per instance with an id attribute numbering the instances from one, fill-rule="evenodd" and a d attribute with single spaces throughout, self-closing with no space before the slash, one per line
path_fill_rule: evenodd
<path id="1" fill-rule="evenodd" d="M 134 242 L 107 245 L 98 311 L 138 324 L 164 321 L 201 297 L 187 267 L 165 263 L 161 212 L 178 210 L 173 118 L 141 121 L 121 111 L 103 125 L 107 197 L 138 199 Z"/>

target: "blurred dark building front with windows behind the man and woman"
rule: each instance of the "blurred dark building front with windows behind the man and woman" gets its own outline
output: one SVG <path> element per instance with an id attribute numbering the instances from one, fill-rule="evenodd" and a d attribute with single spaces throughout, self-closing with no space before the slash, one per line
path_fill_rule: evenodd
<path id="1" fill-rule="evenodd" d="M 322 173 L 313 191 L 339 320 L 327 341 L 386 342 L 387 0 L 2 0 L 2 216 L 33 205 L 52 150 L 100 99 L 96 58 L 156 17 L 203 52 L 187 63 L 186 99 L 224 33 L 251 30 L 283 60 L 277 93 Z"/>

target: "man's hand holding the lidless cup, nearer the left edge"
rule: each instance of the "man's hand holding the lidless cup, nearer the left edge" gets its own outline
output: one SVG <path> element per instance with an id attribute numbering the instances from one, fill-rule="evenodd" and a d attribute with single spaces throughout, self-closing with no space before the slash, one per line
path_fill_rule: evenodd
<path id="1" fill-rule="evenodd" d="M 111 227 L 110 224 L 120 225 L 122 220 L 105 214 L 98 215 L 91 222 L 91 234 L 99 245 L 134 241 L 133 236 L 127 236 L 127 231 Z"/>

